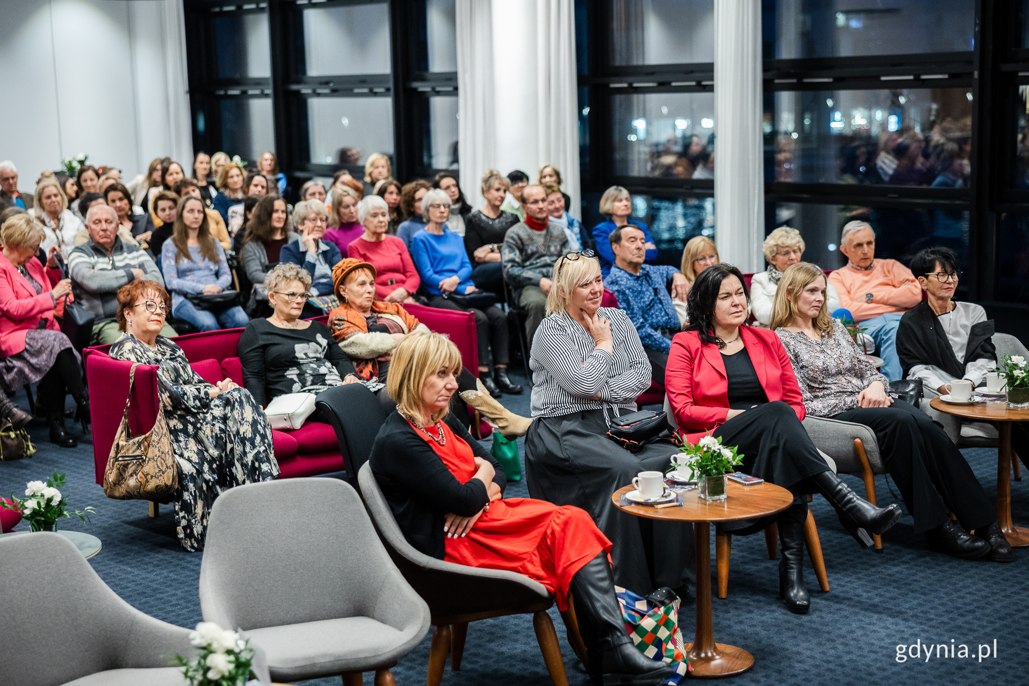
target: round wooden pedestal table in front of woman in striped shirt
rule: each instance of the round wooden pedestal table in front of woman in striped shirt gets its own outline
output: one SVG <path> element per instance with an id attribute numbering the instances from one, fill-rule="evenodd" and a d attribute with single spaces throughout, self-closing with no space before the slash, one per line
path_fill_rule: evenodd
<path id="1" fill-rule="evenodd" d="M 657 509 L 646 505 L 622 507 L 622 496 L 635 486 L 618 489 L 611 496 L 614 506 L 624 512 L 648 519 L 691 521 L 697 541 L 697 629 L 694 642 L 686 644 L 686 657 L 694 667 L 691 677 L 731 677 L 743 674 L 754 665 L 754 656 L 743 648 L 714 642 L 711 627 L 711 532 L 708 525 L 734 519 L 753 519 L 781 512 L 793 502 L 793 495 L 774 483 L 740 485 L 729 482 L 728 498 L 706 501 L 697 491 L 682 494 L 681 507 Z"/>

